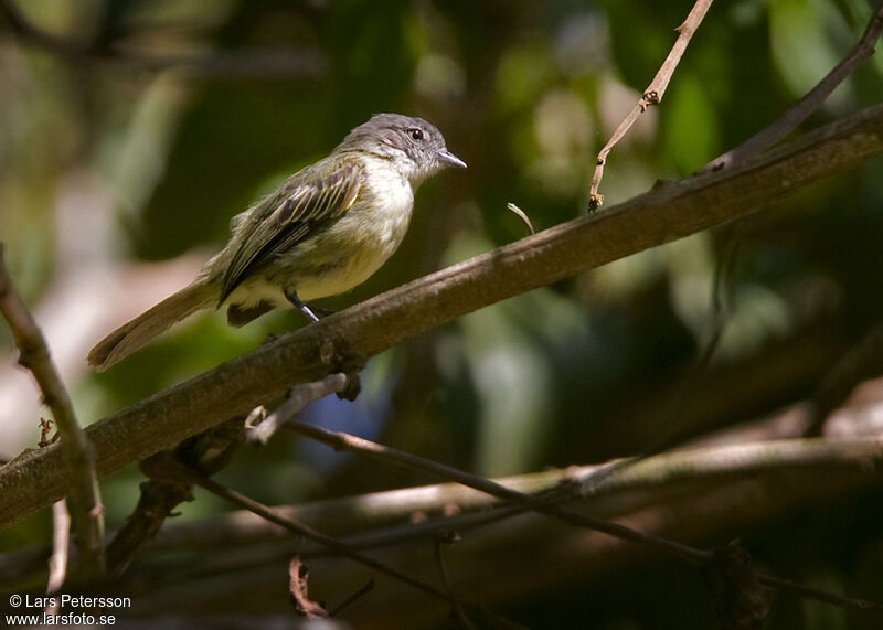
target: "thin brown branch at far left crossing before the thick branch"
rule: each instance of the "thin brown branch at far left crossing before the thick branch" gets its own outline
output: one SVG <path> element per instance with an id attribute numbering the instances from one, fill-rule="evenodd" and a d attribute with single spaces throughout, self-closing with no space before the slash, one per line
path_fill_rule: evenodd
<path id="1" fill-rule="evenodd" d="M 55 370 L 43 334 L 12 285 L 3 249 L 0 243 L 0 312 L 9 322 L 19 349 L 19 363 L 33 373 L 43 402 L 55 417 L 61 436 L 57 446 L 64 459 L 64 468 L 57 473 L 64 478 L 63 492 L 71 498 L 81 574 L 85 579 L 97 579 L 104 576 L 105 562 L 104 505 L 95 472 L 95 451 L 76 421 L 67 389 Z M 39 482 L 31 491 L 38 487 Z"/>

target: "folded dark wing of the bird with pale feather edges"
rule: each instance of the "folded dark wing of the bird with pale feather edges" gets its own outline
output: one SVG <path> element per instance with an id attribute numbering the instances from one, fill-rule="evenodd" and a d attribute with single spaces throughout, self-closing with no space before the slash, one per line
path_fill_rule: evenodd
<path id="1" fill-rule="evenodd" d="M 245 236 L 224 273 L 219 306 L 255 268 L 349 210 L 362 185 L 362 169 L 349 163 L 322 178 L 298 179 L 301 183 L 296 180 L 290 192 L 274 195 L 246 220 Z"/>

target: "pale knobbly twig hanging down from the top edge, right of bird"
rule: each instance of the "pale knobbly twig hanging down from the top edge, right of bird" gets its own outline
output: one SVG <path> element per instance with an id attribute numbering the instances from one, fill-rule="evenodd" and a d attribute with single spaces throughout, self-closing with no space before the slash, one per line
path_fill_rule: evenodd
<path id="1" fill-rule="evenodd" d="M 610 139 L 607 140 L 607 143 L 598 153 L 598 159 L 595 164 L 595 173 L 592 175 L 592 186 L 588 189 L 589 212 L 597 210 L 604 203 L 604 195 L 598 194 L 598 188 L 600 186 L 602 178 L 604 178 L 604 165 L 607 163 L 607 154 L 610 152 L 610 150 L 613 150 L 617 142 L 619 142 L 619 140 L 621 140 L 623 137 L 628 134 L 628 130 L 631 129 L 631 126 L 635 125 L 635 121 L 638 120 L 640 115 L 647 111 L 648 107 L 651 105 L 659 105 L 659 103 L 662 100 L 662 96 L 666 94 L 666 89 L 668 89 L 671 76 L 674 74 L 674 68 L 678 67 L 684 51 L 687 51 L 687 45 L 690 43 L 690 39 L 699 29 L 703 18 L 705 18 L 705 13 L 709 11 L 712 1 L 713 0 L 696 0 L 696 3 L 693 4 L 693 8 L 687 15 L 687 20 L 684 20 L 683 24 L 678 26 L 678 39 L 674 41 L 674 45 L 671 47 L 669 56 L 667 56 L 666 61 L 662 62 L 662 66 L 659 68 L 659 72 L 656 73 L 653 81 L 650 82 L 650 85 L 647 86 L 647 89 L 643 90 L 643 94 L 638 99 L 638 104 L 635 105 L 635 108 L 619 124 L 619 127 L 616 128 L 613 136 L 610 136 Z"/>

